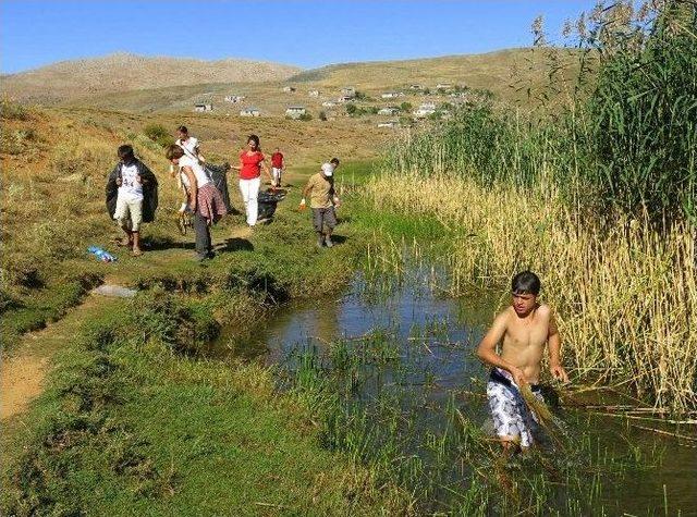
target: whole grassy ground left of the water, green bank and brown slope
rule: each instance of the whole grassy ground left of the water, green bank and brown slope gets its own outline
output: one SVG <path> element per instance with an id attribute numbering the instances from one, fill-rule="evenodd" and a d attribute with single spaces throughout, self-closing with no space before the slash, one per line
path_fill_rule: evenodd
<path id="1" fill-rule="evenodd" d="M 314 247 L 308 214 L 297 210 L 307 175 L 334 152 L 352 156 L 342 147 L 351 141 L 318 145 L 305 164 L 286 151 L 289 195 L 273 223 L 249 234 L 242 217 L 229 218 L 213 229 L 218 256 L 201 267 L 193 236 L 179 235 L 168 216 L 180 195 L 163 174 L 145 255 L 110 244 L 118 232 L 101 193 L 115 146 L 131 136 L 149 164 L 166 167 L 157 144 L 136 133 L 145 119 L 105 113 L 95 124 L 90 111 L 3 112 L 13 113 L 3 131 L 15 146 L 2 149 L 11 193 L 3 196 L 11 221 L 3 227 L 3 356 L 49 365 L 28 413 L 3 420 L 3 514 L 376 515 L 406 507 L 407 494 L 323 450 L 317 408 L 278 394 L 270 370 L 240 360 L 244 350 L 227 361 L 200 356 L 221 324 L 243 336 L 278 304 L 333 293 L 353 274 L 372 230 L 351 198 L 370 162 L 344 163 L 346 208 L 333 250 Z M 199 127 L 207 152 L 222 157 L 229 127 L 208 124 Z M 274 124 L 262 123 L 261 133 L 273 134 Z M 283 131 L 276 136 L 294 132 Z M 50 143 L 52 134 L 64 135 L 64 145 Z M 118 262 L 86 256 L 88 243 L 105 244 Z M 71 310 L 102 281 L 143 294 L 133 301 L 91 295 Z"/>

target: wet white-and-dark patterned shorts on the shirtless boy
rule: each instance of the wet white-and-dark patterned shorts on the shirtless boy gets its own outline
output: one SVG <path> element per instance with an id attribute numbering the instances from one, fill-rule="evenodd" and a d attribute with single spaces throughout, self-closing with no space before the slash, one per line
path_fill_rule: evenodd
<path id="1" fill-rule="evenodd" d="M 539 384 L 530 384 L 530 390 L 540 402 L 545 402 Z M 525 404 L 510 372 L 501 368 L 491 370 L 487 397 L 497 435 L 501 439 L 519 440 L 521 447 L 533 445 L 537 415 Z"/>

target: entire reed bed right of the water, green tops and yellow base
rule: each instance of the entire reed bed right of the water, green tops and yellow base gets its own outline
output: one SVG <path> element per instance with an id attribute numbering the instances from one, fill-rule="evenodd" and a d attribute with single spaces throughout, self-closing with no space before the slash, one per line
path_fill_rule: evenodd
<path id="1" fill-rule="evenodd" d="M 453 292 L 539 272 L 579 374 L 686 411 L 697 408 L 697 4 L 634 8 L 599 4 L 579 21 L 583 62 L 564 102 L 468 106 L 399 139 L 367 188 L 377 206 L 452 230 Z M 560 76 L 550 90 L 565 90 Z"/>

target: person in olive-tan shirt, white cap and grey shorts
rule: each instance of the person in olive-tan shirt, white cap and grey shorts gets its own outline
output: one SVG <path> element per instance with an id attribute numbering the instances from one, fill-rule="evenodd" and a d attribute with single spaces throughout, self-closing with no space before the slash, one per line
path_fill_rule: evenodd
<path id="1" fill-rule="evenodd" d="M 331 248 L 331 233 L 337 225 L 334 206 L 339 198 L 334 193 L 334 171 L 339 167 L 339 159 L 332 158 L 329 163 L 323 163 L 321 172 L 313 174 L 303 189 L 301 209 L 305 208 L 305 198 L 309 196 L 309 206 L 313 209 L 313 223 L 317 232 L 317 247 Z"/>

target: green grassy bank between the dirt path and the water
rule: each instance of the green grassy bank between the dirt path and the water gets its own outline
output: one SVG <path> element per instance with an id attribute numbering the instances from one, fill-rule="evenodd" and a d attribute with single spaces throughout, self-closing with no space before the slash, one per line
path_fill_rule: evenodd
<path id="1" fill-rule="evenodd" d="M 239 359 L 236 337 L 279 304 L 335 293 L 371 238 L 346 187 L 339 246 L 315 248 L 295 209 L 304 179 L 290 179 L 272 224 L 233 237 L 236 220 L 216 227 L 207 266 L 157 226 L 144 257 L 98 263 L 142 294 L 63 332 L 45 394 L 5 424 L 3 514 L 404 510 L 408 494 L 321 446 L 306 398 L 277 393 L 271 370 Z M 223 324 L 230 359 L 207 360 Z"/>

